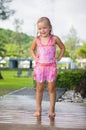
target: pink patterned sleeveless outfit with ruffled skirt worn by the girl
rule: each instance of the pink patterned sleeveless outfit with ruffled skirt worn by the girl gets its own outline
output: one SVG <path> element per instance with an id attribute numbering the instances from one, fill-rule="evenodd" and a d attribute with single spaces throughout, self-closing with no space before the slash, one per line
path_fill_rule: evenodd
<path id="1" fill-rule="evenodd" d="M 38 61 L 34 67 L 34 80 L 37 82 L 52 82 L 57 75 L 55 62 L 56 45 L 53 43 L 53 36 L 50 36 L 46 45 L 42 44 L 41 39 L 37 41 Z"/>

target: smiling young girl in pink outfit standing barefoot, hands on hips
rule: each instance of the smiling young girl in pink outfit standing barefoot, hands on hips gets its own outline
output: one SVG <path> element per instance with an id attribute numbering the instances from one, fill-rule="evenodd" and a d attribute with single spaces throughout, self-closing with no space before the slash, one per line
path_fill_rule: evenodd
<path id="1" fill-rule="evenodd" d="M 47 17 L 41 17 L 37 22 L 37 37 L 31 45 L 31 55 L 35 60 L 34 79 L 36 80 L 36 105 L 37 111 L 34 116 L 41 116 L 42 96 L 44 90 L 44 82 L 48 82 L 48 91 L 50 96 L 49 117 L 55 117 L 55 101 L 57 78 L 56 63 L 62 58 L 65 47 L 59 37 L 52 35 L 52 25 Z M 56 57 L 56 45 L 60 48 L 60 54 Z"/>

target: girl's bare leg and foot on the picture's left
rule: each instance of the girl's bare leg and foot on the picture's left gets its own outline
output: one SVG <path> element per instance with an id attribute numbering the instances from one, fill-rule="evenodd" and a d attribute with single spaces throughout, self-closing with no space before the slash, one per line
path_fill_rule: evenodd
<path id="1" fill-rule="evenodd" d="M 36 105 L 37 105 L 37 111 L 34 113 L 34 116 L 40 116 L 41 115 L 41 103 L 42 103 L 42 96 L 44 91 L 44 83 L 37 82 L 36 86 Z"/>

